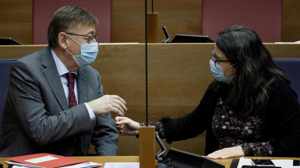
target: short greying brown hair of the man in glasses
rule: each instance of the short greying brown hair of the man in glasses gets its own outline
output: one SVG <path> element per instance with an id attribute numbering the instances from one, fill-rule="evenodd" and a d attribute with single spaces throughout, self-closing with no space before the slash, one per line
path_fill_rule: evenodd
<path id="1" fill-rule="evenodd" d="M 50 21 L 47 39 L 50 47 L 58 44 L 58 34 L 61 32 L 74 33 L 72 31 L 78 25 L 97 25 L 98 19 L 93 13 L 78 6 L 64 6 L 59 8 Z"/>

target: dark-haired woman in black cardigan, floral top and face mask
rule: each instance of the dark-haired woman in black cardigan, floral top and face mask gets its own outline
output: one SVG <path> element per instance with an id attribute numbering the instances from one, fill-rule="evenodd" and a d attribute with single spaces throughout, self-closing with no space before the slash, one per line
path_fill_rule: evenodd
<path id="1" fill-rule="evenodd" d="M 161 138 L 195 138 L 206 130 L 208 158 L 300 156 L 300 111 L 290 81 L 277 68 L 257 33 L 244 26 L 222 30 L 209 60 L 214 81 L 196 109 L 184 117 L 151 122 Z M 120 133 L 140 125 L 116 117 Z"/>

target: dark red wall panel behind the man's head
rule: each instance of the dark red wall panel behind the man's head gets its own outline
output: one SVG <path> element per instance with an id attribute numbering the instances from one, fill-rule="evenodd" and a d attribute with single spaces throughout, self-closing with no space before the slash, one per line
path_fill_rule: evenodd
<path id="1" fill-rule="evenodd" d="M 105 43 L 111 41 L 111 0 L 33 0 L 33 44 L 48 44 L 46 33 L 51 17 L 53 13 L 58 10 L 58 8 L 66 5 L 77 5 L 79 7 L 84 7 L 86 10 L 93 13 L 99 20 L 98 27 L 96 27 L 96 34 L 99 35 L 97 41 Z"/>

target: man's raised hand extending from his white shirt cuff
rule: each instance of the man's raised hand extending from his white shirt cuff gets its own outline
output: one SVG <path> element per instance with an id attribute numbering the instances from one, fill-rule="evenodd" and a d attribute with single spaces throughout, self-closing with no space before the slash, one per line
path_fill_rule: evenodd
<path id="1" fill-rule="evenodd" d="M 88 102 L 88 105 L 96 116 L 106 114 L 107 112 L 114 112 L 117 115 L 124 116 L 124 110 L 127 110 L 125 104 L 125 100 L 117 95 L 104 95 Z"/>

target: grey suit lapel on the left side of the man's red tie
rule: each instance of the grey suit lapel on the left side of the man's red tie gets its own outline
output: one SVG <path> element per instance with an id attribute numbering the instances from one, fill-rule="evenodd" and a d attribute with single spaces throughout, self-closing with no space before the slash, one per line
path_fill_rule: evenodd
<path id="1" fill-rule="evenodd" d="M 57 98 L 61 108 L 63 110 L 69 109 L 64 88 L 62 86 L 61 79 L 59 77 L 58 70 L 49 46 L 47 46 L 42 52 L 41 64 L 46 67 L 43 71 L 43 74 L 49 83 L 50 88 L 55 94 L 55 97 Z"/>

